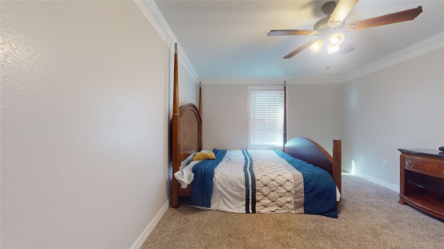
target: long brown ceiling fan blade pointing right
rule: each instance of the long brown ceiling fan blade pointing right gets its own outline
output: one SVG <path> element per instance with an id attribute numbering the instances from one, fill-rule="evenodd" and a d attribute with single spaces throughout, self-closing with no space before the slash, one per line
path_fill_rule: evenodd
<path id="1" fill-rule="evenodd" d="M 344 27 L 345 31 L 356 31 L 362 30 L 364 28 L 373 28 L 377 26 L 383 26 L 386 24 L 395 24 L 401 21 L 413 20 L 422 12 L 422 7 L 413 8 L 410 10 L 404 10 L 400 12 L 391 13 L 388 15 L 383 15 L 380 17 L 373 17 L 363 21 L 355 21 L 352 24 L 347 24 Z"/>

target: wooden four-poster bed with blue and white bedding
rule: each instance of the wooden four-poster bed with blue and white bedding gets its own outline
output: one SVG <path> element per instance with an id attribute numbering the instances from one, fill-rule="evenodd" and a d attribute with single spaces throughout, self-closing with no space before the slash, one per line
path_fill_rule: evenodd
<path id="1" fill-rule="evenodd" d="M 174 75 L 173 208 L 179 207 L 180 196 L 189 196 L 190 205 L 196 208 L 337 218 L 341 140 L 333 140 L 332 156 L 313 140 L 298 137 L 288 140 L 282 151 L 215 148 L 205 151 L 215 158 L 193 160 L 202 151 L 202 94 L 199 91 L 199 107 L 191 103 L 178 107 L 177 50 Z"/>

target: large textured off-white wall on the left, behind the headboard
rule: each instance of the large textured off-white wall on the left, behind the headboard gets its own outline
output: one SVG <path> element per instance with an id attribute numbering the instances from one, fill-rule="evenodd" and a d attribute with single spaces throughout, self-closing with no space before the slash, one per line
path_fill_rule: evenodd
<path id="1" fill-rule="evenodd" d="M 1 248 L 143 243 L 170 196 L 171 44 L 133 1 L 0 4 Z"/>

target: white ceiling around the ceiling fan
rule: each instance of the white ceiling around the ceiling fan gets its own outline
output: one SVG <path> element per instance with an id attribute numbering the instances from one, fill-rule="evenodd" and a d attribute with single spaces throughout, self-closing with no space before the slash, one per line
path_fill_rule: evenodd
<path id="1" fill-rule="evenodd" d="M 444 1 L 361 0 L 345 23 L 422 6 L 412 21 L 345 33 L 351 53 L 285 55 L 313 36 L 268 37 L 270 30 L 312 30 L 323 1 L 155 1 L 200 78 L 345 75 L 444 33 Z M 323 53 L 322 53 L 323 52 Z M 443 55 L 444 59 L 444 55 Z M 328 67 L 328 68 L 327 68 Z"/>

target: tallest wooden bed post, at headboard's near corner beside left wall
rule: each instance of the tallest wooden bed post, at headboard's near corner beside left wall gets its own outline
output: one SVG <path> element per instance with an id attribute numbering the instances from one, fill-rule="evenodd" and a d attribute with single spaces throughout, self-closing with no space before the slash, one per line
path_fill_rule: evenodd
<path id="1" fill-rule="evenodd" d="M 171 118 L 171 154 L 173 164 L 173 174 L 179 170 L 180 166 L 180 120 L 179 120 L 179 82 L 178 82 L 178 44 L 174 44 L 174 86 L 173 86 L 173 118 Z M 173 208 L 179 207 L 179 182 L 172 177 L 173 181 Z"/>

